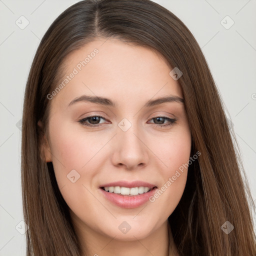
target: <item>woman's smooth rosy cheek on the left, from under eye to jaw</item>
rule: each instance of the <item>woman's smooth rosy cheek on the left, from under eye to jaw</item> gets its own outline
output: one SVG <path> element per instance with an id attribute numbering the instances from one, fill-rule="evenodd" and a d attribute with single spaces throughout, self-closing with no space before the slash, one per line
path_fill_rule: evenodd
<path id="1" fill-rule="evenodd" d="M 93 144 L 94 136 L 85 136 L 70 126 L 64 123 L 51 126 L 52 164 L 59 190 L 67 205 L 71 209 L 86 212 L 86 207 L 94 207 L 95 198 L 86 188 L 91 190 L 90 181 L 96 174 L 92 166 L 93 156 L 101 143 Z"/>

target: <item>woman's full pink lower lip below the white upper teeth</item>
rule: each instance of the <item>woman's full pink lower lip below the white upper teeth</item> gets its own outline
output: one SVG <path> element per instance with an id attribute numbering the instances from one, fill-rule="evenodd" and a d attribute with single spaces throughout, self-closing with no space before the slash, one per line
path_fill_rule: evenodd
<path id="1" fill-rule="evenodd" d="M 115 194 L 105 191 L 102 188 L 99 190 L 103 193 L 103 195 L 113 204 L 122 207 L 122 208 L 136 208 L 144 204 L 146 201 L 149 201 L 149 197 L 152 196 L 155 191 L 156 187 L 152 190 L 137 195 L 122 195 L 122 194 Z"/>

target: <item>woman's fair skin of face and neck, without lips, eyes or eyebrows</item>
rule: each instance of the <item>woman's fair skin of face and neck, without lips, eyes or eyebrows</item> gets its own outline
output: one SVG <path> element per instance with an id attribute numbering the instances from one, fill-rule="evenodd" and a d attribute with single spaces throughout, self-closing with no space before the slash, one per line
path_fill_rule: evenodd
<path id="1" fill-rule="evenodd" d="M 136 208 L 112 204 L 102 196 L 99 185 L 143 180 L 161 188 L 189 160 L 191 136 L 183 103 L 143 107 L 149 99 L 170 94 L 182 97 L 181 88 L 160 53 L 112 38 L 97 38 L 71 52 L 63 62 L 65 75 L 94 48 L 99 50 L 95 57 L 50 100 L 45 160 L 52 161 L 84 252 L 168 255 L 167 218 L 184 191 L 187 169 L 154 202 Z M 117 107 L 92 102 L 68 106 L 83 94 L 104 96 Z M 94 128 L 78 122 L 88 115 L 105 119 L 94 120 L 100 125 Z M 153 119 L 157 116 L 176 118 L 176 122 L 160 127 L 169 121 L 157 122 Z M 118 127 L 123 118 L 131 123 L 125 132 Z M 95 125 L 92 119 L 86 123 Z M 72 169 L 80 175 L 74 183 L 67 178 Z M 118 229 L 123 221 L 131 226 L 125 234 Z M 176 255 L 172 234 L 170 240 L 170 255 Z"/>

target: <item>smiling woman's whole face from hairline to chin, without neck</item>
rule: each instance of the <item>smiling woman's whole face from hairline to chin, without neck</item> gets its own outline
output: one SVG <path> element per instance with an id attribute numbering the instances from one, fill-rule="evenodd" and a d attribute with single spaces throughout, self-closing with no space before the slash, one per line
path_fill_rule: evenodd
<path id="1" fill-rule="evenodd" d="M 146 237 L 186 182 L 191 137 L 178 81 L 159 53 L 114 39 L 73 51 L 63 68 L 47 96 L 44 150 L 72 220 L 84 235 Z"/>

